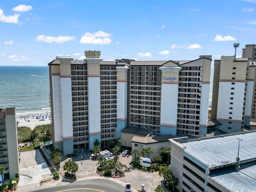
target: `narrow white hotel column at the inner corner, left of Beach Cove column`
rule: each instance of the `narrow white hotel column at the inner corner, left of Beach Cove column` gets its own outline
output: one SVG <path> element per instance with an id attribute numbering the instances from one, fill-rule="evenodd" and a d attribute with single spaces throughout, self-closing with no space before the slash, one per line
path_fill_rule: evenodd
<path id="1" fill-rule="evenodd" d="M 129 67 L 116 67 L 116 137 L 127 126 L 127 71 Z"/>

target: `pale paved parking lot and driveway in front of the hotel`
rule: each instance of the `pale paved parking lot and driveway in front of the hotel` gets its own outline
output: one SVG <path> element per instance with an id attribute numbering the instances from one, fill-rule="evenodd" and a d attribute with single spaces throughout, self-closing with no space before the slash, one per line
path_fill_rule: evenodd
<path id="1" fill-rule="evenodd" d="M 50 152 L 50 151 L 48 151 Z M 132 161 L 132 156 L 127 155 L 126 157 L 119 156 L 119 162 L 124 165 L 124 168 L 128 168 L 123 178 L 108 178 L 100 177 L 96 174 L 96 168 L 98 166 L 97 159 L 90 159 L 90 153 L 86 150 L 82 150 L 77 153 L 76 156 L 72 157 L 72 160 L 78 164 L 78 171 L 76 172 L 77 180 L 90 180 L 99 177 L 100 179 L 111 179 L 114 182 L 118 182 L 121 185 L 125 183 L 131 183 L 132 191 L 141 189 L 141 185 L 144 184 L 144 188 L 148 192 L 154 192 L 155 188 L 161 184 L 163 180 L 162 177 L 158 175 L 158 172 L 144 172 L 136 169 L 130 169 Z M 34 191 L 36 189 L 48 188 L 51 186 L 56 186 L 60 184 L 67 184 L 68 182 L 64 178 L 60 178 L 58 181 L 51 180 L 51 182 L 43 183 L 40 186 L 40 178 L 42 174 L 50 173 L 44 158 L 40 154 L 39 150 L 32 150 L 27 152 L 21 152 L 21 162 L 20 162 L 20 180 L 18 183 L 18 191 Z M 83 163 L 81 164 L 81 156 Z M 62 162 L 60 164 L 60 171 L 64 174 L 62 166 L 70 158 L 62 157 Z M 33 168 L 34 167 L 34 168 Z M 32 178 L 30 178 L 31 176 Z M 29 186 L 28 186 L 29 185 Z"/>

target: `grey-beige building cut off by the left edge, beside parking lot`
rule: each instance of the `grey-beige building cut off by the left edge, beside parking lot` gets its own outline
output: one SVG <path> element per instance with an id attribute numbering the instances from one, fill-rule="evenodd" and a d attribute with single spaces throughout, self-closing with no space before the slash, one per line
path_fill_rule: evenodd
<path id="1" fill-rule="evenodd" d="M 20 176 L 18 156 L 18 130 L 15 108 L 0 108 L 0 167 L 10 178 Z"/>

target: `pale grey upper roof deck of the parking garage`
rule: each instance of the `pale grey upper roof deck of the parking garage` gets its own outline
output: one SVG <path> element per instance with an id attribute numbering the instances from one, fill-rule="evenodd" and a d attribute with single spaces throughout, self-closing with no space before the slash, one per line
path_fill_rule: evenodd
<path id="1" fill-rule="evenodd" d="M 208 139 L 196 139 L 182 143 L 186 146 L 186 152 L 196 156 L 206 164 L 209 169 L 216 166 L 236 162 L 238 156 L 238 139 L 240 141 L 239 157 L 240 162 L 256 158 L 256 132 L 245 132 Z"/>

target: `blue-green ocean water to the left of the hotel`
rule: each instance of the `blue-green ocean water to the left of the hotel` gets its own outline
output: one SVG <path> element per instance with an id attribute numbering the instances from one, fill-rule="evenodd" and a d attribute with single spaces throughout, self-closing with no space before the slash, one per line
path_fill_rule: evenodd
<path id="1" fill-rule="evenodd" d="M 0 66 L 0 108 L 16 116 L 50 114 L 48 66 Z"/>

